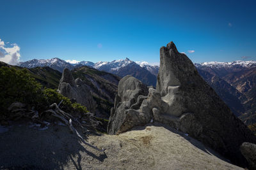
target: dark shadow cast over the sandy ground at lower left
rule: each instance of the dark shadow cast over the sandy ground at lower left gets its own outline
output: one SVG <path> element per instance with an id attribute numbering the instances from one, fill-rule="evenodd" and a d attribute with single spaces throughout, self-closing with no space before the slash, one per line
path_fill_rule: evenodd
<path id="1" fill-rule="evenodd" d="M 0 134 L 0 169 L 83 169 L 88 162 L 82 161 L 100 163 L 106 158 L 106 153 L 85 145 L 61 125 L 40 131 L 29 124 L 14 124 Z"/>

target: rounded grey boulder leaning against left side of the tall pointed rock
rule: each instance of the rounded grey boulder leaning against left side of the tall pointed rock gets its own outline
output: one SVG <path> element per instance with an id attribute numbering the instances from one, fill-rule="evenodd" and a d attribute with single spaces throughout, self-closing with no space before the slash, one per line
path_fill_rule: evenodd
<path id="1" fill-rule="evenodd" d="M 137 125 L 145 125 L 152 115 L 140 113 L 136 106 L 140 106 L 143 96 L 148 95 L 147 86 L 140 80 L 125 76 L 119 81 L 118 94 L 115 97 L 114 108 L 109 117 L 108 133 L 118 134 L 125 132 Z M 137 103 L 139 102 L 139 103 Z"/>

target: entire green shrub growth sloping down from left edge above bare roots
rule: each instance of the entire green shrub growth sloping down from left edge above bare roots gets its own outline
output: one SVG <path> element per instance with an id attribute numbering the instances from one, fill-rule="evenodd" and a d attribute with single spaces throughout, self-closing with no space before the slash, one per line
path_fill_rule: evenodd
<path id="1" fill-rule="evenodd" d="M 71 113 L 86 113 L 85 106 L 71 103 L 55 89 L 42 89 L 42 85 L 31 78 L 26 69 L 0 67 L 0 115 L 8 116 L 8 107 L 13 102 L 26 104 L 31 108 L 45 111 L 53 103 L 61 103 L 61 109 Z"/>

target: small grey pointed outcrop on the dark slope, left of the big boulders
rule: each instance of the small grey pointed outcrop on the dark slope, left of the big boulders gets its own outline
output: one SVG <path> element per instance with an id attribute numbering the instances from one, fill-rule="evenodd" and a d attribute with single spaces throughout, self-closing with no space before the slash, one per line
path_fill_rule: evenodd
<path id="1" fill-rule="evenodd" d="M 74 80 L 70 70 L 67 68 L 63 70 L 58 90 L 60 94 L 68 97 L 71 101 L 83 104 L 92 112 L 95 111 L 96 104 L 90 90 L 88 90 L 85 83 L 80 78 Z"/>

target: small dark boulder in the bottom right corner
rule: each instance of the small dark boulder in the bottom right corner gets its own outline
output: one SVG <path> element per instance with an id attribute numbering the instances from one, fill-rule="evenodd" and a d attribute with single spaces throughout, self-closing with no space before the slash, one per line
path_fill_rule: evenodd
<path id="1" fill-rule="evenodd" d="M 249 163 L 250 169 L 256 169 L 256 145 L 244 142 L 240 146 L 240 150 Z"/>

